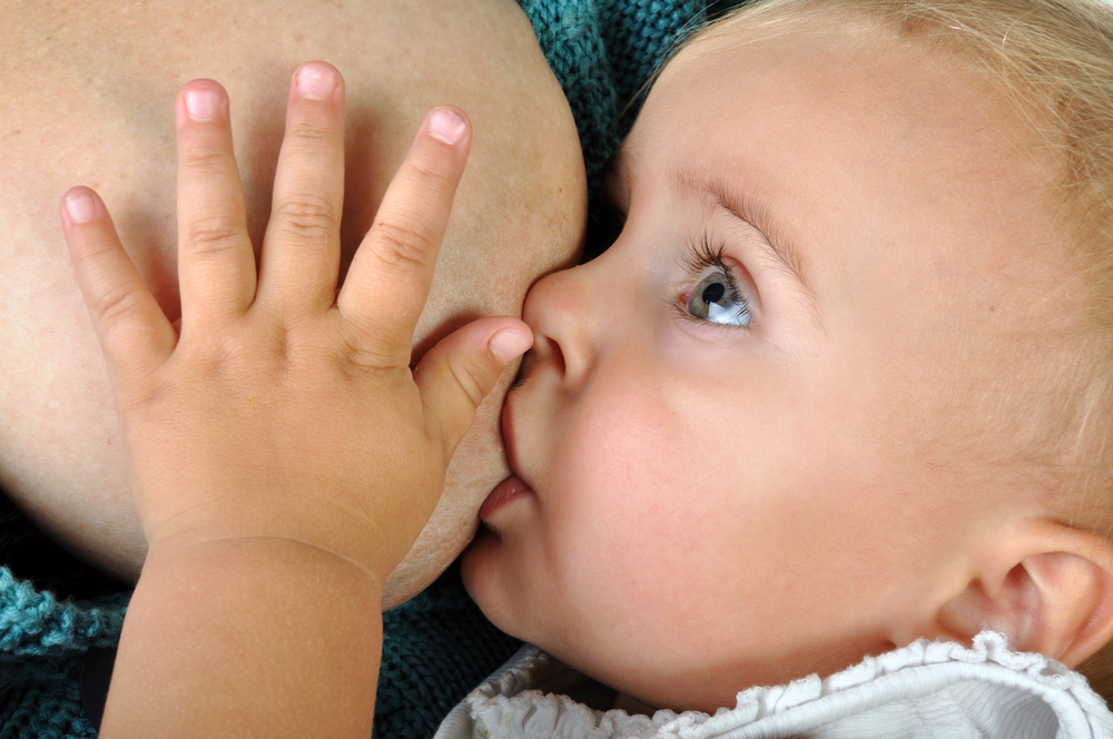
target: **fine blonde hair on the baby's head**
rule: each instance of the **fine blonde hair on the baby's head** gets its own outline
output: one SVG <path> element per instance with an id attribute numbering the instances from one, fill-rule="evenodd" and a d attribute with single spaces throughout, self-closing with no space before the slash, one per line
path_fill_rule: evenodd
<path id="1" fill-rule="evenodd" d="M 777 32 L 785 21 L 857 12 L 925 39 L 987 72 L 1047 142 L 1062 152 L 1061 205 L 1067 256 L 1083 285 L 1062 372 L 1048 449 L 1048 500 L 1065 522 L 1113 538 L 1113 8 L 1100 0 L 760 0 L 693 29 L 674 52 L 705 36 Z M 1113 643 L 1080 667 L 1113 704 Z"/>

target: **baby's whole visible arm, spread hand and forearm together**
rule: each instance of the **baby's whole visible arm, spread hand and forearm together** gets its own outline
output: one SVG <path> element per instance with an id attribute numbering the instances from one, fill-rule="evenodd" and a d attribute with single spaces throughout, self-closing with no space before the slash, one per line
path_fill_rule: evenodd
<path id="1" fill-rule="evenodd" d="M 533 341 L 516 318 L 481 318 L 410 367 L 471 144 L 456 108 L 417 132 L 337 288 L 343 105 L 324 62 L 292 80 L 257 265 L 227 95 L 183 88 L 178 329 L 105 204 L 87 187 L 62 199 L 149 545 L 106 739 L 371 736 L 383 583 Z"/>

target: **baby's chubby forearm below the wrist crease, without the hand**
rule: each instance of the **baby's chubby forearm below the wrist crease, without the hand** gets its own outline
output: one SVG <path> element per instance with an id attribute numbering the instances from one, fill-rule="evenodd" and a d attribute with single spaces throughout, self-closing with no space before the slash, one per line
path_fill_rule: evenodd
<path id="1" fill-rule="evenodd" d="M 101 736 L 371 736 L 382 587 L 277 539 L 152 548 Z"/>

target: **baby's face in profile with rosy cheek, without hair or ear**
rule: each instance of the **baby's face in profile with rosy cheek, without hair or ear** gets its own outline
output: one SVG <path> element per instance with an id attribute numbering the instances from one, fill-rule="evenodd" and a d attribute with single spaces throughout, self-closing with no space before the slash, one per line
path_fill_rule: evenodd
<path id="1" fill-rule="evenodd" d="M 481 513 L 469 590 L 673 708 L 934 635 L 965 542 L 1036 505 L 979 454 L 1031 431 L 1054 158 L 962 62 L 866 22 L 698 40 L 622 154 L 621 236 L 526 298 L 524 482 Z"/>

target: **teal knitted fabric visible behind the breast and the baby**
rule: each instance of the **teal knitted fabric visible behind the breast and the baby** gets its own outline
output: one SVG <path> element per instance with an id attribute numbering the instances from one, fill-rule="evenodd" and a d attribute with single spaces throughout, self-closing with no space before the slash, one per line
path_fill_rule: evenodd
<path id="1" fill-rule="evenodd" d="M 519 2 L 568 96 L 594 195 L 633 121 L 639 90 L 677 35 L 702 20 L 708 0 Z M 97 736 L 81 709 L 78 676 L 90 649 L 116 644 L 128 598 L 60 601 L 0 568 L 0 739 Z M 483 618 L 450 569 L 384 614 L 376 738 L 431 737 L 518 647 Z"/>

